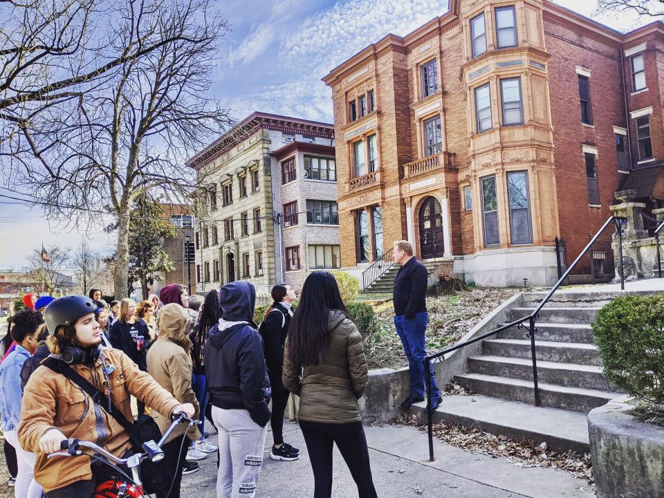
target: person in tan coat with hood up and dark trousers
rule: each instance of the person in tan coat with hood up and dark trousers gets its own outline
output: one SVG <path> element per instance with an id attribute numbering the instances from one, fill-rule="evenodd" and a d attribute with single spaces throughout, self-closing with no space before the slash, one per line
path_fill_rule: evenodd
<path id="1" fill-rule="evenodd" d="M 192 389 L 192 341 L 187 332 L 190 326 L 187 310 L 179 304 L 167 304 L 159 312 L 157 328 L 159 339 L 147 351 L 147 371 L 154 377 L 161 387 L 169 391 L 175 398 L 185 403 L 191 403 L 196 409 L 194 418 L 199 417 L 199 402 Z M 171 425 L 169 418 L 162 414 L 152 412 L 151 416 L 163 434 Z M 165 465 L 169 475 L 175 474 L 171 491 L 157 492 L 157 498 L 180 498 L 180 482 L 183 465 L 187 456 L 185 440 L 187 427 L 179 425 L 168 436 L 162 450 L 165 454 Z M 201 437 L 197 427 L 192 427 L 190 437 L 196 441 Z"/>

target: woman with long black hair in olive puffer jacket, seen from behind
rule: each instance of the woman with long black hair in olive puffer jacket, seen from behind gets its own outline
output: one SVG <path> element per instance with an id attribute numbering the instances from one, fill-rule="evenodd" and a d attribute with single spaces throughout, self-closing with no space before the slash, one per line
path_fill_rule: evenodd
<path id="1" fill-rule="evenodd" d="M 288 329 L 282 381 L 300 396 L 297 418 L 313 469 L 314 498 L 332 494 L 332 443 L 359 498 L 377 498 L 358 404 L 367 386 L 367 360 L 362 335 L 348 315 L 333 275 L 314 272 Z"/>

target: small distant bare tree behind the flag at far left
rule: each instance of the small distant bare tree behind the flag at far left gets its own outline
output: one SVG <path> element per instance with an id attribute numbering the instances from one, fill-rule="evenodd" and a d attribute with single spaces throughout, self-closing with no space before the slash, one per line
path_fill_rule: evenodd
<path id="1" fill-rule="evenodd" d="M 55 293 L 68 293 L 73 286 L 73 280 L 66 275 L 69 266 L 69 248 L 60 246 L 46 247 L 48 258 L 44 261 L 41 249 L 35 249 L 26 258 L 26 280 L 30 287 L 39 295 L 53 295 Z"/>

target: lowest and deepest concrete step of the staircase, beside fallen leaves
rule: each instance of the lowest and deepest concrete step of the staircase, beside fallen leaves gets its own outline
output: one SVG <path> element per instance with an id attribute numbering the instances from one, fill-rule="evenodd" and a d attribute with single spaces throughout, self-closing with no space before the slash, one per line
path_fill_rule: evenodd
<path id="1" fill-rule="evenodd" d="M 425 407 L 426 402 L 412 407 L 412 412 L 423 423 L 427 421 Z M 434 423 L 457 423 L 463 427 L 502 434 L 514 441 L 546 442 L 548 448 L 558 452 L 589 452 L 586 415 L 579 412 L 535 407 L 489 396 L 443 396 L 432 418 Z"/>

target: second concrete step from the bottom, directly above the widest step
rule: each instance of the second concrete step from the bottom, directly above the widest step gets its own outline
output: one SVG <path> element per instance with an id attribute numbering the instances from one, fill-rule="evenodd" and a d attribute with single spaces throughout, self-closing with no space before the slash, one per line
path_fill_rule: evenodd
<path id="1" fill-rule="evenodd" d="M 534 403 L 535 389 L 532 380 L 488 376 L 482 374 L 461 374 L 454 376 L 459 385 L 472 392 L 522 403 Z M 588 413 L 591 409 L 606 405 L 618 394 L 583 387 L 569 387 L 540 382 L 540 401 L 544 407 L 561 408 L 573 412 Z"/>

